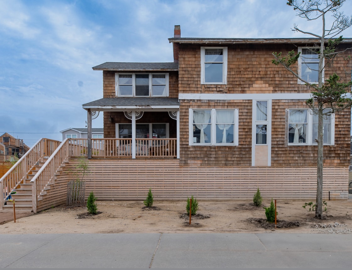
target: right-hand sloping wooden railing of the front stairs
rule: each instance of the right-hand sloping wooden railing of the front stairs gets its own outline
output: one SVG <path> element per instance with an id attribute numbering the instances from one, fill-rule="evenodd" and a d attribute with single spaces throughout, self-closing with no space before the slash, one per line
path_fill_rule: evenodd
<path id="1" fill-rule="evenodd" d="M 39 169 L 38 173 L 32 178 L 32 201 L 33 212 L 37 212 L 37 200 L 43 195 L 46 187 L 53 184 L 57 170 L 69 158 L 69 139 L 65 139 L 50 155 L 49 159 Z"/>

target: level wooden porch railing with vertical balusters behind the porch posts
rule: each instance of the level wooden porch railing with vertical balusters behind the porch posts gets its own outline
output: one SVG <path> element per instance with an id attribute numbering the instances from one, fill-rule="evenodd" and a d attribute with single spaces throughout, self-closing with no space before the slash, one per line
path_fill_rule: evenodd
<path id="1" fill-rule="evenodd" d="M 176 142 L 175 138 L 136 139 L 136 158 L 175 158 Z M 69 139 L 69 153 L 71 156 L 87 156 L 88 139 Z M 92 139 L 92 157 L 132 158 L 132 139 Z"/>

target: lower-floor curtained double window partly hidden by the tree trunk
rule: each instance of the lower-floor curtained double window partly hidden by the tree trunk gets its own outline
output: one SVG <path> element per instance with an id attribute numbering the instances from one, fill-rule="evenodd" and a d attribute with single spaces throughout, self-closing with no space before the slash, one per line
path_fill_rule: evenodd
<path id="1" fill-rule="evenodd" d="M 328 109 L 324 109 L 327 113 Z M 290 109 L 288 116 L 288 145 L 314 145 L 318 139 L 318 115 L 307 109 Z M 323 143 L 334 144 L 334 115 L 323 116 Z"/>

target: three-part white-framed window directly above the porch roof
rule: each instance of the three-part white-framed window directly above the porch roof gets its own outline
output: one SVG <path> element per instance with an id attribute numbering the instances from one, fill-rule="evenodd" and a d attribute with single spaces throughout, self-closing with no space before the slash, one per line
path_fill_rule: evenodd
<path id="1" fill-rule="evenodd" d="M 117 96 L 167 97 L 169 73 L 115 73 Z"/>

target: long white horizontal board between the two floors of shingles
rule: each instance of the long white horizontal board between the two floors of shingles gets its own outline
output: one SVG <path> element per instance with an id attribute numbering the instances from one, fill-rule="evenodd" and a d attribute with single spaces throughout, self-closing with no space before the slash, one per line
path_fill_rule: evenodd
<path id="1" fill-rule="evenodd" d="M 278 93 L 278 94 L 179 94 L 178 99 L 198 100 L 241 100 L 241 99 L 309 99 L 310 93 Z"/>

